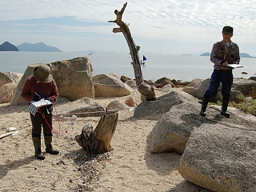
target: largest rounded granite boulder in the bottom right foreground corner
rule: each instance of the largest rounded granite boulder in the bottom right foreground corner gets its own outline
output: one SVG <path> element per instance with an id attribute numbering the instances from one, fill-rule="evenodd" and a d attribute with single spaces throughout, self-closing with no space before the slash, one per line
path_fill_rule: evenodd
<path id="1" fill-rule="evenodd" d="M 256 118 L 232 112 L 194 127 L 178 172 L 212 191 L 256 191 Z"/>

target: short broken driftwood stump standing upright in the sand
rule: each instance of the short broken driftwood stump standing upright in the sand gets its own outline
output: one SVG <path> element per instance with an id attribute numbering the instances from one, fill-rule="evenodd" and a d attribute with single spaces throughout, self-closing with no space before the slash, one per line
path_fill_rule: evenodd
<path id="1" fill-rule="evenodd" d="M 82 146 L 87 154 L 104 154 L 112 150 L 110 146 L 114 131 L 118 123 L 118 110 L 106 109 L 105 114 L 93 130 L 90 123 L 82 128 L 82 134 L 75 136 L 79 146 Z"/>

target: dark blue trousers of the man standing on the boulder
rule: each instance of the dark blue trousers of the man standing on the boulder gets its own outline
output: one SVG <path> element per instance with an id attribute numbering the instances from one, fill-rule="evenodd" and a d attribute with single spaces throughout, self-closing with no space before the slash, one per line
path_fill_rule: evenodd
<path id="1" fill-rule="evenodd" d="M 232 70 L 215 70 L 211 74 L 210 86 L 206 93 L 203 95 L 204 98 L 211 98 L 216 96 L 218 93 L 218 86 L 222 82 L 222 100 L 228 101 L 230 99 L 230 90 L 233 84 Z"/>

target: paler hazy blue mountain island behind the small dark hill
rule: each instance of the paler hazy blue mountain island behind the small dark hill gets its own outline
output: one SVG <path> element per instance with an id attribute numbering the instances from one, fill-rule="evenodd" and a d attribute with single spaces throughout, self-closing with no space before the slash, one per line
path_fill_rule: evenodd
<path id="1" fill-rule="evenodd" d="M 55 46 L 46 46 L 46 44 L 43 42 L 38 42 L 35 44 L 25 42 L 17 47 L 20 51 L 63 52 Z"/>

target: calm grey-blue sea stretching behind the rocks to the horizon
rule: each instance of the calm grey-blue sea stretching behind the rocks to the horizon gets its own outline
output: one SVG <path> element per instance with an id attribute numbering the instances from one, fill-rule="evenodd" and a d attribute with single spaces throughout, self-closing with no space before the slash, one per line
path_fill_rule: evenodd
<path id="1" fill-rule="evenodd" d="M 141 65 L 142 76 L 146 80 L 156 81 L 170 78 L 190 82 L 194 78 L 210 78 L 213 63 L 210 57 L 172 54 L 144 54 L 145 65 Z M 93 76 L 115 73 L 134 78 L 134 68 L 130 54 L 116 53 L 69 53 L 69 52 L 26 52 L 0 51 L 0 72 L 18 72 L 24 74 L 26 68 L 34 63 L 58 62 L 66 59 L 87 57 L 93 66 Z M 139 55 L 140 59 L 143 55 Z M 241 58 L 241 65 L 233 70 L 234 78 L 250 78 L 256 75 L 256 58 Z"/>

